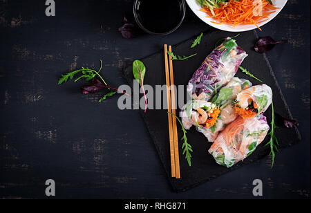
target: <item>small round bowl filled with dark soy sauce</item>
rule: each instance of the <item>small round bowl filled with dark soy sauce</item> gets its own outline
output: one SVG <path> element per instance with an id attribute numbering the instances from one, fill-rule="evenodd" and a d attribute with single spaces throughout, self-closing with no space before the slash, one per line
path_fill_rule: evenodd
<path id="1" fill-rule="evenodd" d="M 168 35 L 177 30 L 185 19 L 185 0 L 135 0 L 134 17 L 145 32 Z"/>

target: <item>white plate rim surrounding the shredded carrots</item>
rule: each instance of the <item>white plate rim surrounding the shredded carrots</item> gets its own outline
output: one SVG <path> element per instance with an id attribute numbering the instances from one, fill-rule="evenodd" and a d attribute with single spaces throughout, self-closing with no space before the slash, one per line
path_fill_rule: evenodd
<path id="1" fill-rule="evenodd" d="M 212 26 L 214 28 L 218 28 L 220 30 L 225 30 L 225 31 L 229 31 L 229 32 L 244 32 L 244 31 L 248 31 L 248 30 L 254 30 L 257 28 L 253 24 L 244 24 L 244 25 L 236 26 L 236 27 L 229 26 L 228 24 L 213 24 L 213 23 L 211 23 L 211 21 L 215 21 L 215 20 L 207 17 L 207 14 L 205 12 L 200 11 L 200 9 L 201 9 L 200 4 L 196 0 L 186 0 L 186 1 L 188 3 L 189 7 L 191 8 L 191 10 L 194 11 L 194 13 L 202 21 L 204 21 L 206 24 L 208 24 L 209 26 Z M 267 21 L 264 21 L 261 24 L 258 24 L 259 27 L 264 26 L 269 21 L 274 19 L 274 17 L 276 17 L 276 15 L 278 15 L 279 12 L 281 12 L 281 10 L 284 8 L 284 6 L 288 2 L 288 0 L 272 0 L 272 2 L 274 2 L 274 6 L 276 8 L 279 8 L 279 9 L 277 9 L 274 13 L 272 13 L 268 17 Z"/>

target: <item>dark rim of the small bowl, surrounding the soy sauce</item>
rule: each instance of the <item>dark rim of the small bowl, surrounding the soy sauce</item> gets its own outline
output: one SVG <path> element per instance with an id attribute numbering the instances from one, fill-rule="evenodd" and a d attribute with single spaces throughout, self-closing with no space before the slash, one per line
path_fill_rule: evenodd
<path id="1" fill-rule="evenodd" d="M 134 17 L 135 21 L 137 22 L 138 26 L 142 28 L 146 33 L 149 33 L 151 35 L 168 35 L 170 33 L 173 33 L 175 30 L 177 30 L 180 25 L 182 24 L 182 21 L 185 19 L 185 14 L 186 14 L 186 3 L 185 0 L 166 0 L 166 1 L 177 1 L 176 7 L 178 8 L 169 8 L 169 10 L 174 10 L 175 12 L 178 13 L 178 17 L 174 17 L 176 19 L 176 22 L 170 27 L 170 28 L 163 28 L 163 30 L 151 30 L 150 27 L 146 26 L 147 24 L 144 23 L 144 20 L 142 16 L 140 15 L 140 4 L 142 1 L 151 1 L 151 0 L 135 0 L 134 2 Z M 167 8 L 165 8 L 167 9 Z M 159 12 L 162 12 L 161 10 Z M 164 17 L 167 15 L 162 14 Z M 170 13 L 169 13 L 170 15 Z"/>

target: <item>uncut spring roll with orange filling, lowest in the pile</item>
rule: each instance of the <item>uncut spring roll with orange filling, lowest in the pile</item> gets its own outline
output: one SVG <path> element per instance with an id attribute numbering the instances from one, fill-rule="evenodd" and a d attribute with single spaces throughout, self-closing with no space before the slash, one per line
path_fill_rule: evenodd
<path id="1" fill-rule="evenodd" d="M 232 167 L 255 151 L 267 136 L 269 129 L 267 120 L 262 114 L 245 119 L 238 116 L 219 133 L 209 149 L 209 154 L 214 156 L 219 165 Z"/>

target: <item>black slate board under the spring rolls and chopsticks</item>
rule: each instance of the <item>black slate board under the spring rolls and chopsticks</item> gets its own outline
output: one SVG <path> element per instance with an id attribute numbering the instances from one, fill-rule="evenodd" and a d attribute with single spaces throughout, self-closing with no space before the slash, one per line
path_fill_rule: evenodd
<path id="1" fill-rule="evenodd" d="M 188 61 L 174 62 L 174 75 L 176 85 L 187 85 L 193 73 L 204 61 L 205 57 L 211 53 L 216 41 L 223 37 L 234 36 L 236 33 L 227 33 L 220 30 L 210 30 L 205 32 L 204 37 L 200 46 L 196 48 L 189 48 L 194 41 L 194 38 L 182 42 L 176 46 L 173 46 L 173 53 L 176 55 L 191 55 L 193 53 L 198 53 L 196 57 L 189 59 Z M 241 33 L 236 41 L 239 46 L 247 51 L 248 57 L 243 62 L 242 66 L 247 68 L 256 77 L 263 80 L 265 84 L 272 87 L 274 93 L 274 108 L 276 112 L 284 115 L 285 117 L 292 118 L 288 105 L 286 104 L 283 94 L 279 84 L 276 82 L 272 68 L 267 61 L 265 55 L 258 54 L 254 52 L 254 42 L 257 39 L 256 31 L 249 31 L 247 33 Z M 165 84 L 165 73 L 164 73 L 164 53 L 163 49 L 154 55 L 142 59 L 145 66 L 147 67 L 147 74 L 144 78 L 144 84 L 149 84 L 155 87 L 155 85 Z M 260 82 L 252 79 L 251 77 L 245 75 L 244 73 L 238 72 L 237 77 L 245 78 L 250 80 L 253 85 L 261 84 Z M 133 73 L 132 66 L 126 66 L 124 68 L 124 77 L 130 86 L 133 86 Z M 207 180 L 216 178 L 222 174 L 230 172 L 238 167 L 242 167 L 248 163 L 252 163 L 255 160 L 264 158 L 270 153 L 269 147 L 264 147 L 267 142 L 268 137 L 265 141 L 256 149 L 252 156 L 245 159 L 243 162 L 238 163 L 234 167 L 227 169 L 220 165 L 217 165 L 214 158 L 208 154 L 207 150 L 211 146 L 207 139 L 198 133 L 194 128 L 192 128 L 187 133 L 187 138 L 189 143 L 194 149 L 192 154 L 192 167 L 187 165 L 185 156 L 180 154 L 180 170 L 182 178 L 176 180 L 171 178 L 171 165 L 169 156 L 169 133 L 168 133 L 168 123 L 167 123 L 167 111 L 166 110 L 149 110 L 147 113 L 141 111 L 146 127 L 149 130 L 151 138 L 153 139 L 156 149 L 164 165 L 164 169 L 167 172 L 167 176 L 173 186 L 173 190 L 176 192 L 182 192 L 191 187 L 204 183 Z M 271 107 L 265 113 L 268 122 L 271 121 Z M 178 136 L 182 136 L 182 131 L 178 127 Z M 290 147 L 296 142 L 301 140 L 298 129 L 285 129 L 280 127 L 276 130 L 276 136 L 280 142 L 280 149 L 285 147 Z M 182 142 L 180 142 L 181 148 Z M 181 149 L 180 149 L 181 150 Z M 181 151 L 180 151 L 181 152 Z"/>

